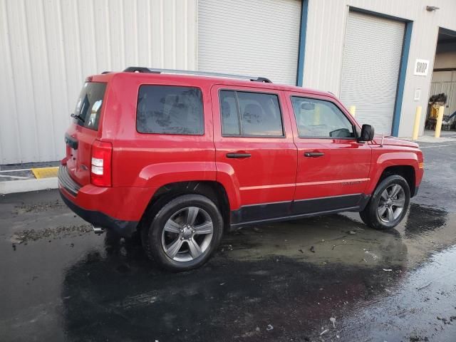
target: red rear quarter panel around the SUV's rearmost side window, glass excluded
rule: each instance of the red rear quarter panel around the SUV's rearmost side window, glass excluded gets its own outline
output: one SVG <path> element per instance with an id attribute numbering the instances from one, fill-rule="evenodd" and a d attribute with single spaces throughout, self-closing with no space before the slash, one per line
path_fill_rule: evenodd
<path id="1" fill-rule="evenodd" d="M 202 90 L 204 135 L 145 134 L 136 130 L 140 86 L 192 86 Z M 113 186 L 147 187 L 151 194 L 162 185 L 185 180 L 215 180 L 210 85 L 195 80 L 170 81 L 150 74 L 116 74 L 110 84 L 103 120 L 103 140 L 113 143 Z"/>

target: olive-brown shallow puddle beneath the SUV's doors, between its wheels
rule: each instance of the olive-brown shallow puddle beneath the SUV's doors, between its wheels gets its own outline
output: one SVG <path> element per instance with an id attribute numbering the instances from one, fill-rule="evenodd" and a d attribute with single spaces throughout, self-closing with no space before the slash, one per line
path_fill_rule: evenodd
<path id="1" fill-rule="evenodd" d="M 227 253 L 234 259 L 284 256 L 322 266 L 403 264 L 407 257 L 397 231 L 378 232 L 342 215 L 246 227 L 224 239 L 222 249 L 227 244 L 232 246 Z"/>

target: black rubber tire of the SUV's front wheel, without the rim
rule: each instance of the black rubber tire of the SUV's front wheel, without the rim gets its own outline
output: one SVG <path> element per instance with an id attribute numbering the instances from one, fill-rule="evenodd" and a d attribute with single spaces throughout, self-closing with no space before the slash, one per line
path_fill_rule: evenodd
<path id="1" fill-rule="evenodd" d="M 385 218 L 380 217 L 380 214 L 378 212 L 380 198 L 382 197 L 383 192 L 385 192 L 385 190 L 389 189 L 393 185 L 400 185 L 400 187 L 403 189 L 404 202 L 402 212 L 400 212 L 398 217 L 395 217 L 395 219 L 392 219 L 390 222 L 385 222 Z M 405 214 L 407 214 L 409 205 L 410 187 L 408 186 L 408 182 L 400 175 L 391 175 L 386 177 L 377 185 L 375 191 L 371 196 L 371 199 L 366 205 L 366 208 L 364 208 L 363 211 L 359 214 L 363 222 L 373 229 L 391 229 L 396 227 L 403 220 Z"/>

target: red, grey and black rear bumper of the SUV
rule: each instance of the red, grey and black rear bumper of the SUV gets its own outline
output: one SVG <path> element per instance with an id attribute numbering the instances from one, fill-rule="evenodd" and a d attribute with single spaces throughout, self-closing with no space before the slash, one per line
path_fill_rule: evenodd
<path id="1" fill-rule="evenodd" d="M 58 189 L 63 202 L 82 219 L 123 237 L 135 232 L 150 199 L 140 188 L 81 187 L 64 165 L 58 170 Z"/>

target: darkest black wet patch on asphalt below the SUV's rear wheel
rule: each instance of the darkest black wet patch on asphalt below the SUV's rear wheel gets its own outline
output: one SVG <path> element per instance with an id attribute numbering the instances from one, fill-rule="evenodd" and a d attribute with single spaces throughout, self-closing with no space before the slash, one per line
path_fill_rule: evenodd
<path id="1" fill-rule="evenodd" d="M 397 261 L 382 271 L 224 253 L 202 269 L 170 274 L 150 267 L 138 247 L 115 241 L 106 247 L 65 272 L 59 310 L 71 339 L 289 341 L 392 291 L 405 275 Z"/>

